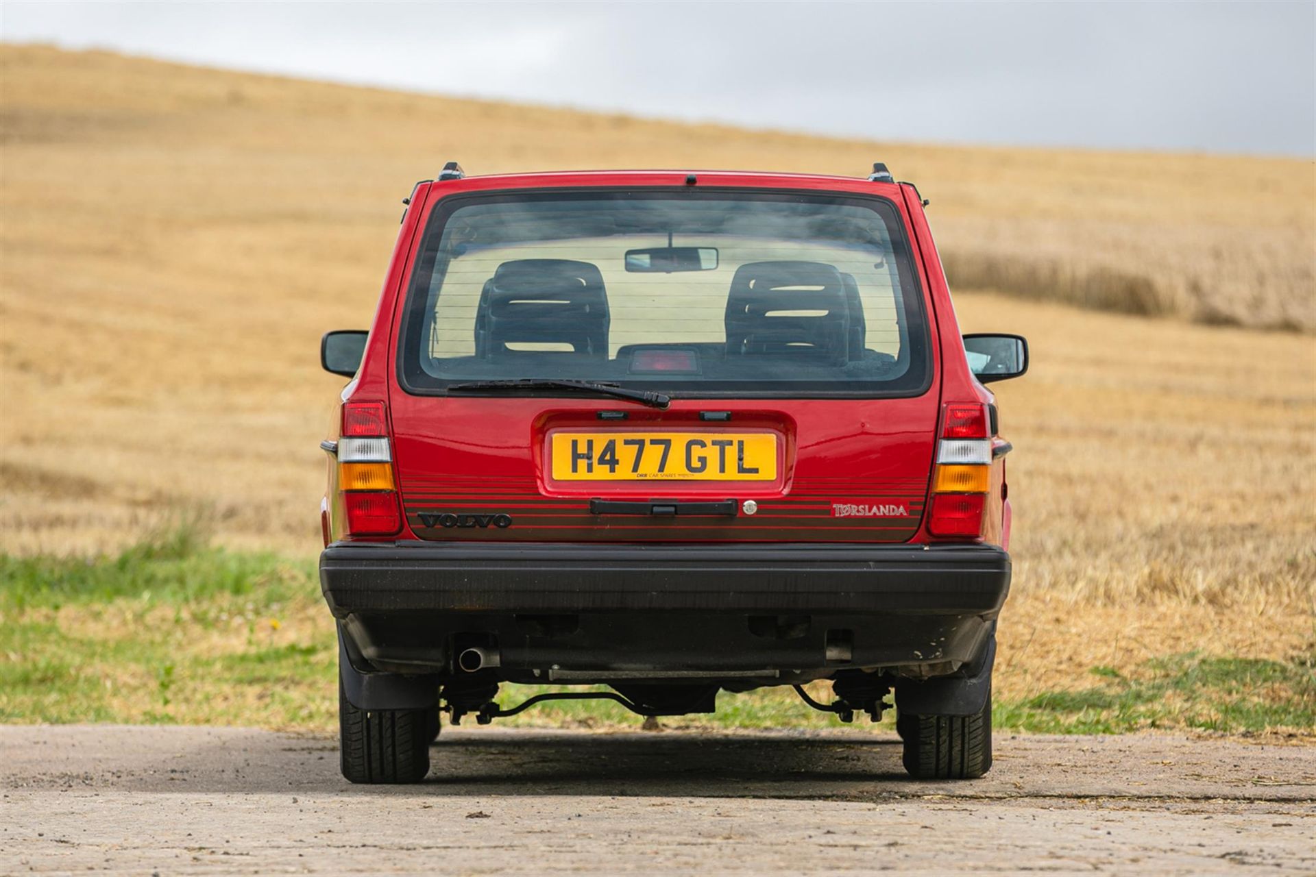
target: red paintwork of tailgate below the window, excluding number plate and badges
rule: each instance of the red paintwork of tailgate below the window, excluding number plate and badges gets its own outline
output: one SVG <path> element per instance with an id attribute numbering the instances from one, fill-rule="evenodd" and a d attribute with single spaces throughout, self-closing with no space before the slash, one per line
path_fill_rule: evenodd
<path id="1" fill-rule="evenodd" d="M 775 404 L 765 415 L 767 402 Z M 547 418 L 597 430 L 607 400 L 391 397 L 393 446 L 412 535 L 529 542 L 905 542 L 923 515 L 937 405 L 930 393 L 903 400 L 753 400 L 672 402 L 636 412 L 613 430 L 709 430 L 699 410 L 732 412 L 725 431 L 790 419 L 776 483 L 576 481 L 553 485 L 544 471 Z M 744 415 L 742 415 L 744 413 Z M 496 437 L 496 438 L 495 438 Z M 754 500 L 737 517 L 592 515 L 590 498 Z M 899 505 L 900 517 L 833 517 L 833 505 Z M 509 514 L 515 526 L 424 527 L 420 513 Z"/>

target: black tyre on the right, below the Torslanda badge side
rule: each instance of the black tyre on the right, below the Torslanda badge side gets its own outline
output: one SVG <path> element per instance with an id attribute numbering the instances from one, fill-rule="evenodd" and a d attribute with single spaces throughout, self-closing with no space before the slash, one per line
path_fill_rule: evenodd
<path id="1" fill-rule="evenodd" d="M 898 715 L 904 767 L 916 780 L 976 780 L 991 770 L 991 690 L 974 715 Z"/>

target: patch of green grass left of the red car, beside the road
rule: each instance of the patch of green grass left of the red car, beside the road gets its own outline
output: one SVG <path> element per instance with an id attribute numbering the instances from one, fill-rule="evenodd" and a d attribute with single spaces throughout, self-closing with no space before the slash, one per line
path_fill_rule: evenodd
<path id="1" fill-rule="evenodd" d="M 329 727 L 315 564 L 176 527 L 116 556 L 0 555 L 0 722 Z"/>

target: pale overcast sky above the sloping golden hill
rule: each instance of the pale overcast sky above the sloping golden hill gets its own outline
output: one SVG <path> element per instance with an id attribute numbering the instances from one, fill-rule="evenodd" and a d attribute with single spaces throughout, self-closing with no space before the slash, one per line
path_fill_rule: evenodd
<path id="1" fill-rule="evenodd" d="M 1316 3 L 4 3 L 0 37 L 891 141 L 1309 156 Z"/>

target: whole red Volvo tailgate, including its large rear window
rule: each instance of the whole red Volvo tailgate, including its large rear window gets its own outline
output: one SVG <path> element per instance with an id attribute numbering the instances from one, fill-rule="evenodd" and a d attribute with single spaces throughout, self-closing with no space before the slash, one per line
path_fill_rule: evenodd
<path id="1" fill-rule="evenodd" d="M 700 179 L 440 201 L 396 316 L 390 380 L 411 533 L 913 538 L 937 446 L 938 356 L 903 205 L 894 187 L 869 188 L 742 192 Z M 717 255 L 676 272 L 632 264 L 674 239 Z M 447 392 L 540 377 L 674 401 Z"/>

